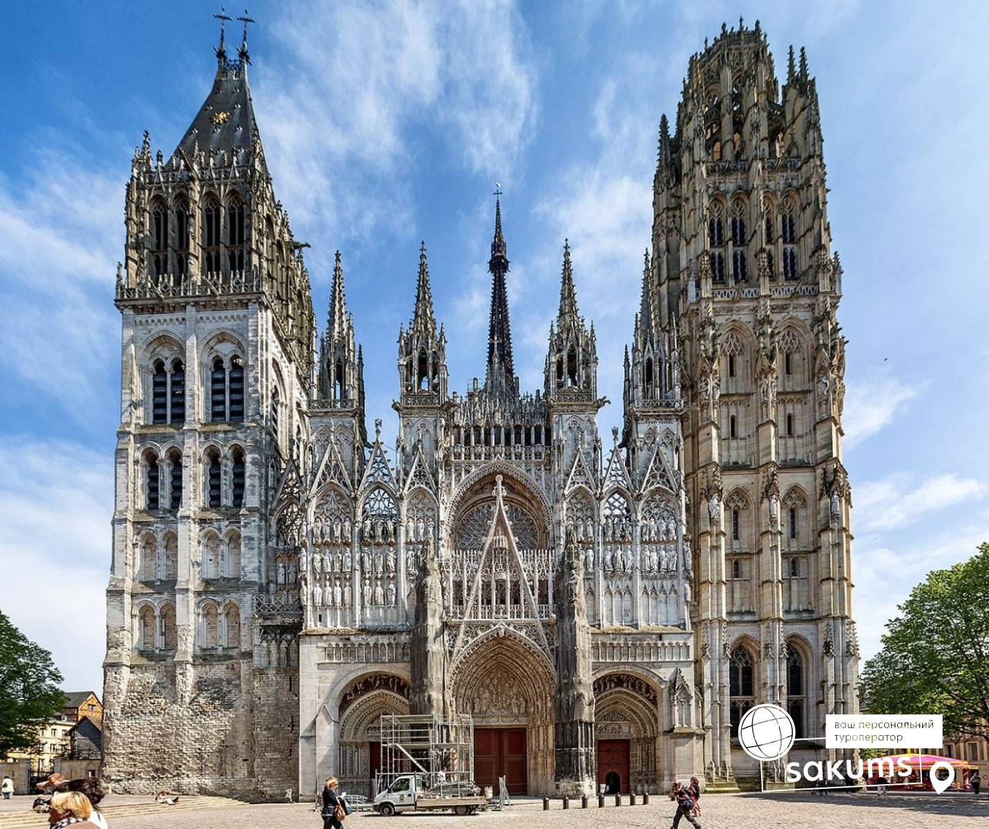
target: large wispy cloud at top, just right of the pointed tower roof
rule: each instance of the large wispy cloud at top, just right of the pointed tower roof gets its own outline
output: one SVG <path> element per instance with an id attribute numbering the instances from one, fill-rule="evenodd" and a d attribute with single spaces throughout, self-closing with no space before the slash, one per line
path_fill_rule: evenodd
<path id="1" fill-rule="evenodd" d="M 274 33 L 295 63 L 255 72 L 262 138 L 279 197 L 320 234 L 411 226 L 409 170 L 434 151 L 416 131 L 502 180 L 530 138 L 535 67 L 511 3 L 304 3 Z"/>

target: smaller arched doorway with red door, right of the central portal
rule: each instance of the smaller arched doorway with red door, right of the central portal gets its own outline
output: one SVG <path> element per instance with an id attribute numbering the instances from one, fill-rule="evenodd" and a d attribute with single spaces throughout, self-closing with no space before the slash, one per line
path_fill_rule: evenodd
<path id="1" fill-rule="evenodd" d="M 606 793 L 657 790 L 658 700 L 651 683 L 631 674 L 594 681 L 597 783 Z"/>

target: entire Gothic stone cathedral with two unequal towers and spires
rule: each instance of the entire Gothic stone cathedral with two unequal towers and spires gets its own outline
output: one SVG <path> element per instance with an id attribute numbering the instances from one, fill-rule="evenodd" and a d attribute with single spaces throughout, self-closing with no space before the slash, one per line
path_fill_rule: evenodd
<path id="1" fill-rule="evenodd" d="M 246 33 L 216 52 L 185 136 L 166 156 L 145 134 L 127 186 L 114 790 L 369 793 L 380 717 L 406 712 L 469 715 L 495 790 L 731 790 L 760 777 L 735 736 L 750 706 L 805 739 L 855 712 L 843 274 L 804 51 L 780 83 L 740 22 L 690 58 L 621 429 L 597 429 L 566 244 L 543 387 L 519 387 L 496 200 L 484 378 L 451 387 L 423 245 L 394 443 L 367 427 L 339 252 L 316 322 Z"/>

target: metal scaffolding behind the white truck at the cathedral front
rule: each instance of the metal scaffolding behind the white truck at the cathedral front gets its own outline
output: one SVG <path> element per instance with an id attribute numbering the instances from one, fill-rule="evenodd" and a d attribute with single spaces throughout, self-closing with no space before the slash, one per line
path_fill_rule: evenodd
<path id="1" fill-rule="evenodd" d="M 421 775 L 437 794 L 459 796 L 474 785 L 474 720 L 430 714 L 382 714 L 376 791 L 403 775 Z"/>

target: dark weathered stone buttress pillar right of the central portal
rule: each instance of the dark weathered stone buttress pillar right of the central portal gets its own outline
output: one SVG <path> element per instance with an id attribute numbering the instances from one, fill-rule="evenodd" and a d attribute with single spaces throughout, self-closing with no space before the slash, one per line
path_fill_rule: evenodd
<path id="1" fill-rule="evenodd" d="M 567 533 L 563 558 L 554 592 L 557 616 L 555 781 L 557 794 L 579 797 L 593 794 L 597 775 L 584 559 L 573 529 Z"/>

